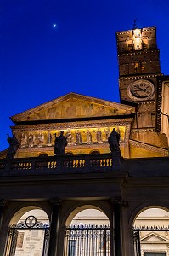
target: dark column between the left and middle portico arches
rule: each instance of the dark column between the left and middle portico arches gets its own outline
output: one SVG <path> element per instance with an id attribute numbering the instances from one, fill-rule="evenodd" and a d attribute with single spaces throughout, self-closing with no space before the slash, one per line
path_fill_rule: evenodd
<path id="1" fill-rule="evenodd" d="M 59 198 L 54 198 L 51 200 L 51 203 L 52 212 L 48 256 L 56 256 L 59 236 L 59 209 L 61 205 L 61 200 Z"/>

